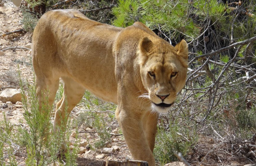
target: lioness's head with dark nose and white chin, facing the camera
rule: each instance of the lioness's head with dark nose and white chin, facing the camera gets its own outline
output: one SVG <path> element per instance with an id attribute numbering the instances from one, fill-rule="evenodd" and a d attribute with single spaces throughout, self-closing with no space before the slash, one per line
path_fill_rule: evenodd
<path id="1" fill-rule="evenodd" d="M 161 40 L 143 38 L 138 47 L 140 75 L 154 111 L 167 112 L 186 82 L 188 46 L 175 47 Z"/>

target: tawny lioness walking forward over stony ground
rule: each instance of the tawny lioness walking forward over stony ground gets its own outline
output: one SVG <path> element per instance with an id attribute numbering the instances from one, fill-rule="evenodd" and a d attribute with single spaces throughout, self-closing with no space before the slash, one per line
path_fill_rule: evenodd
<path id="1" fill-rule="evenodd" d="M 52 105 L 60 78 L 64 82 L 54 131 L 65 107 L 70 113 L 89 90 L 118 105 L 116 118 L 133 159 L 154 166 L 158 112 L 169 111 L 185 85 L 186 41 L 173 47 L 140 22 L 117 28 L 77 10 L 51 10 L 40 18 L 32 43 L 39 105 L 45 95 Z"/>

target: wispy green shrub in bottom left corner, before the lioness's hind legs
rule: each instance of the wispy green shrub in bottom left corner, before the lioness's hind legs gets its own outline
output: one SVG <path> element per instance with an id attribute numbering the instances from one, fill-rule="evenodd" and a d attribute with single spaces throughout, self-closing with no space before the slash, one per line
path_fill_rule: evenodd
<path id="1" fill-rule="evenodd" d="M 19 78 L 20 75 L 19 75 Z M 20 79 L 21 80 L 21 79 Z M 5 166 L 18 166 L 15 158 L 15 153 L 18 149 L 25 149 L 26 154 L 25 163 L 28 166 L 48 166 L 54 163 L 62 166 L 61 159 L 56 155 L 58 154 L 61 145 L 67 142 L 69 145 L 69 138 L 71 130 L 59 130 L 54 133 L 53 124 L 50 122 L 52 107 L 46 104 L 42 105 L 39 111 L 39 104 L 35 95 L 35 85 L 26 84 L 28 87 L 28 97 L 25 97 L 25 84 L 20 81 L 22 103 L 24 108 L 24 119 L 28 124 L 27 127 L 19 125 L 15 127 L 5 118 L 0 121 L 0 165 Z M 62 120 L 62 124 L 70 126 L 77 126 L 77 124 L 70 124 L 67 119 Z M 21 122 L 23 124 L 23 122 Z M 78 130 L 76 129 L 78 132 Z M 67 147 L 65 153 L 65 163 L 69 166 L 75 166 L 78 153 L 78 138 L 73 144 L 72 150 Z M 8 161 L 6 160 L 8 157 Z"/>

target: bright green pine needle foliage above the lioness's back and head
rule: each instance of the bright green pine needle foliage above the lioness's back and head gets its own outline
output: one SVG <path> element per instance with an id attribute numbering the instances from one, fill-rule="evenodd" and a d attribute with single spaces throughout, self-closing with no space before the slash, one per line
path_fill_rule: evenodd
<path id="1" fill-rule="evenodd" d="M 116 19 L 112 24 L 126 27 L 134 21 L 141 21 L 152 29 L 161 29 L 175 38 L 184 35 L 190 40 L 199 35 L 200 22 L 193 21 L 191 15 L 196 15 L 198 21 L 205 17 L 224 19 L 225 5 L 217 0 L 196 0 L 192 4 L 187 0 L 119 0 L 118 6 L 112 9 Z"/>

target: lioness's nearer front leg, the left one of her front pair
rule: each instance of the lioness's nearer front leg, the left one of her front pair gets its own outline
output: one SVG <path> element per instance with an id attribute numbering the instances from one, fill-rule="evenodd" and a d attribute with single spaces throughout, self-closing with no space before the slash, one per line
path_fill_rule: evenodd
<path id="1" fill-rule="evenodd" d="M 153 156 L 154 145 L 148 142 L 142 123 L 142 114 L 137 111 L 125 110 L 118 107 L 116 118 L 122 128 L 128 148 L 135 160 L 147 161 L 149 166 L 155 166 Z"/>

